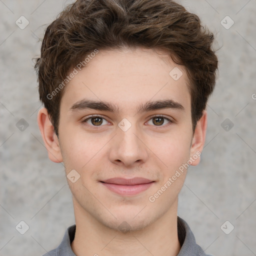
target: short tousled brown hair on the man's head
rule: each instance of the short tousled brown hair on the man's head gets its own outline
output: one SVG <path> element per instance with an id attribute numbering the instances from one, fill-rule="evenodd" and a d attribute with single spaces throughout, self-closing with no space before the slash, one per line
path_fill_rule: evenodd
<path id="1" fill-rule="evenodd" d="M 35 63 L 39 98 L 58 135 L 64 88 L 56 88 L 87 54 L 122 47 L 164 49 L 187 72 L 194 131 L 215 85 L 213 39 L 196 14 L 172 0 L 77 0 L 46 28 Z"/>

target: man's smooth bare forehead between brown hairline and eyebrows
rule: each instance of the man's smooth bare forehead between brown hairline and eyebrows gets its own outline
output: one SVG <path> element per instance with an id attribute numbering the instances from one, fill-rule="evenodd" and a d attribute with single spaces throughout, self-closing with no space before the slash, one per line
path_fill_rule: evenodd
<path id="1" fill-rule="evenodd" d="M 184 67 L 159 49 L 99 50 L 68 82 L 61 107 L 67 110 L 83 98 L 111 102 L 126 110 L 141 102 L 161 99 L 190 107 Z"/>

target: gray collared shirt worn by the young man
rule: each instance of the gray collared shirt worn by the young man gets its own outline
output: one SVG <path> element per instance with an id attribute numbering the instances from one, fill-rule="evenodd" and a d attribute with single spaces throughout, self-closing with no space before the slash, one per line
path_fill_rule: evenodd
<path id="1" fill-rule="evenodd" d="M 196 244 L 194 235 L 184 219 L 177 216 L 178 240 L 181 245 L 177 256 L 212 256 L 205 254 L 202 248 Z M 61 243 L 57 248 L 50 250 L 43 256 L 75 256 L 71 248 L 74 239 L 75 224 L 69 226 L 64 234 Z"/>

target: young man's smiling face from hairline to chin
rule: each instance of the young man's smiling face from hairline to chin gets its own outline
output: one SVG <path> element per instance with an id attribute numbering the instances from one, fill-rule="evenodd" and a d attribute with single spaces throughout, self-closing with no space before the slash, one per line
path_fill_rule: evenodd
<path id="1" fill-rule="evenodd" d="M 75 211 L 138 230 L 176 210 L 184 164 L 201 149 L 187 84 L 166 52 L 144 48 L 99 51 L 70 80 L 58 145 L 66 174 L 79 177 L 67 179 Z"/>

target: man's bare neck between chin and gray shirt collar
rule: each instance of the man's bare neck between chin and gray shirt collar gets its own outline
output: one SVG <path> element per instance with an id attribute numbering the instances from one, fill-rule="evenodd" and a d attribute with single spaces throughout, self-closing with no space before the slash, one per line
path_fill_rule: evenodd
<path id="1" fill-rule="evenodd" d="M 166 212 L 142 230 L 126 233 L 99 223 L 75 200 L 73 202 L 76 230 L 71 248 L 77 256 L 176 256 L 180 250 L 177 201 L 175 210 Z"/>

